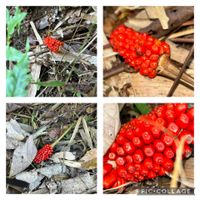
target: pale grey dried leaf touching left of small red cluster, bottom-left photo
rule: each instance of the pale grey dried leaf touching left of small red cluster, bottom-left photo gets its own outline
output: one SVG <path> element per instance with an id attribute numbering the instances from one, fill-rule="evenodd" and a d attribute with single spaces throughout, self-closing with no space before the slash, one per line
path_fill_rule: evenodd
<path id="1" fill-rule="evenodd" d="M 18 146 L 12 158 L 10 167 L 10 176 L 14 176 L 26 169 L 33 161 L 37 154 L 37 148 L 33 141 L 33 136 L 29 136 L 26 143 Z"/>

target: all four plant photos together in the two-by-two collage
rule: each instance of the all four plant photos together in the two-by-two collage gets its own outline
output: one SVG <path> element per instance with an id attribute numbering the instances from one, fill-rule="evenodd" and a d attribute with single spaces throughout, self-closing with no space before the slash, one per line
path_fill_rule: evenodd
<path id="1" fill-rule="evenodd" d="M 194 6 L 5 9 L 6 194 L 195 194 Z"/>

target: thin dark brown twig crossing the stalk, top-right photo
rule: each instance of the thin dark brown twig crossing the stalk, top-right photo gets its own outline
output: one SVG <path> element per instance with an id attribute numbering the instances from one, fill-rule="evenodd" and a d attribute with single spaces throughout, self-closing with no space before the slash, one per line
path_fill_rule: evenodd
<path id="1" fill-rule="evenodd" d="M 190 49 L 190 52 L 189 52 L 187 58 L 185 59 L 185 62 L 183 63 L 183 66 L 182 66 L 182 68 L 181 68 L 181 70 L 180 70 L 180 72 L 179 72 L 176 80 L 174 81 L 174 83 L 173 83 L 173 85 L 172 85 L 172 87 L 171 87 L 171 89 L 170 89 L 170 91 L 169 91 L 169 93 L 167 95 L 168 97 L 171 97 L 173 95 L 174 91 L 176 90 L 176 88 L 177 88 L 177 86 L 179 84 L 180 78 L 183 75 L 183 73 L 185 72 L 186 67 L 189 64 L 190 59 L 191 59 L 193 53 L 194 53 L 194 45 Z"/>

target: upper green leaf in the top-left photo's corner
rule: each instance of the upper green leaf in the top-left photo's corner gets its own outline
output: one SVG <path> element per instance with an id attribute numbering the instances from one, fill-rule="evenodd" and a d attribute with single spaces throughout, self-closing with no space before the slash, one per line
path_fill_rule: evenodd
<path id="1" fill-rule="evenodd" d="M 15 29 L 19 29 L 21 22 L 26 17 L 27 13 L 21 12 L 19 7 L 16 7 L 14 16 L 11 16 L 6 8 L 6 24 L 7 24 L 7 44 L 10 43 Z"/>

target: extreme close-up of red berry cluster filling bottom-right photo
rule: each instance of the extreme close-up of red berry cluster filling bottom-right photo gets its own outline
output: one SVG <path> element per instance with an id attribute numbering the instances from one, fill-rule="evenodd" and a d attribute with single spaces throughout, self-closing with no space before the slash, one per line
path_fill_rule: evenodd
<path id="1" fill-rule="evenodd" d="M 192 154 L 194 137 L 194 108 L 188 104 L 159 105 L 124 124 L 103 159 L 104 189 L 171 172 L 177 145 L 186 135 L 183 158 Z"/>

